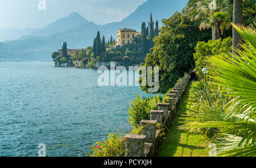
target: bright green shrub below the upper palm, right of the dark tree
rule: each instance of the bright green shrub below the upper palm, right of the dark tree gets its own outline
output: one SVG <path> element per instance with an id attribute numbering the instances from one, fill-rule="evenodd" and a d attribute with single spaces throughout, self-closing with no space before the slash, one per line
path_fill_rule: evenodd
<path id="1" fill-rule="evenodd" d="M 213 55 L 227 54 L 228 52 L 232 52 L 232 38 L 224 38 L 223 40 L 209 40 L 208 42 L 199 41 L 196 45 L 196 53 L 194 53 L 194 59 L 196 63 L 196 74 L 203 78 L 204 74 L 202 73 L 202 69 L 207 66 L 205 60 L 207 57 Z"/>

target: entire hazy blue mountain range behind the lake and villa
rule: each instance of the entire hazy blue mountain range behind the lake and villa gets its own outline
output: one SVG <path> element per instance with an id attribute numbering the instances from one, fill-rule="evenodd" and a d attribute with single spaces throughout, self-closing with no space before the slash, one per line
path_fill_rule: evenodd
<path id="1" fill-rule="evenodd" d="M 119 28 L 133 28 L 141 32 L 141 23 L 170 18 L 176 11 L 181 11 L 188 0 L 148 0 L 122 21 L 106 25 L 96 25 L 73 12 L 65 18 L 58 19 L 42 29 L 0 29 L 0 40 L 7 37 L 9 41 L 0 42 L 0 61 L 51 61 L 53 51 L 61 49 L 67 41 L 69 49 L 85 48 L 93 43 L 97 31 L 106 39 L 113 35 L 116 38 Z M 12 33 L 11 33 L 12 32 Z M 2 34 L 6 36 L 3 37 Z M 17 38 L 16 40 L 15 37 Z"/>

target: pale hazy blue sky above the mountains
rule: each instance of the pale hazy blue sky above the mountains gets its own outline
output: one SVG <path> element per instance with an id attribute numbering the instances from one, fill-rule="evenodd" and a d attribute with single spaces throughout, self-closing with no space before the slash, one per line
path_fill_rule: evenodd
<path id="1" fill-rule="evenodd" d="M 46 2 L 46 10 L 39 3 Z M 43 28 L 78 12 L 96 24 L 121 21 L 147 0 L 0 0 L 0 28 Z M 127 3 L 129 2 L 129 3 Z M 40 8 L 42 9 L 42 8 Z"/>

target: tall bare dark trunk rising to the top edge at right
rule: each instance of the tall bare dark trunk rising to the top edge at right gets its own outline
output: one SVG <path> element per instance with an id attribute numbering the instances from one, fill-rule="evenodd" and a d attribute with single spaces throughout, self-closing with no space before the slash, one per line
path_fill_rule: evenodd
<path id="1" fill-rule="evenodd" d="M 243 3 L 242 0 L 234 0 L 233 7 L 233 24 L 242 25 L 243 24 Z M 240 48 L 239 43 L 241 42 L 241 36 L 233 28 L 233 54 L 236 54 L 236 49 Z"/>

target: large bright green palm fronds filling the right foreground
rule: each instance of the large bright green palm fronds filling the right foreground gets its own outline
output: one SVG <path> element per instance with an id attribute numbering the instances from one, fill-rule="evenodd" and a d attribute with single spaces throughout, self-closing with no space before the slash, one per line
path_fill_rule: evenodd
<path id="1" fill-rule="evenodd" d="M 217 156 L 256 156 L 256 32 L 233 27 L 245 44 L 237 54 L 208 58 L 207 92 L 203 85 L 195 88 L 196 103 L 183 128 L 212 138 Z"/>

